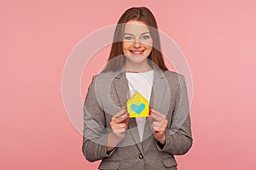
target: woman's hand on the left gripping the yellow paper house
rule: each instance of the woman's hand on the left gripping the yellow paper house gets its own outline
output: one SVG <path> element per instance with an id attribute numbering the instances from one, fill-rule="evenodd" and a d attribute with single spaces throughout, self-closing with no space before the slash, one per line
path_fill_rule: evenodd
<path id="1" fill-rule="evenodd" d="M 113 134 L 116 139 L 122 140 L 125 138 L 125 131 L 128 128 L 129 113 L 128 111 L 122 110 L 116 113 L 111 118 L 110 127 L 112 128 Z"/>

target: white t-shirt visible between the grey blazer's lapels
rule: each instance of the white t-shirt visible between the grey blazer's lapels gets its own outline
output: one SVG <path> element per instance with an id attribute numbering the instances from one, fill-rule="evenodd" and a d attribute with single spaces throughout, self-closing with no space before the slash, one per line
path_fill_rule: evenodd
<path id="1" fill-rule="evenodd" d="M 125 73 L 128 80 L 130 95 L 139 92 L 145 99 L 150 100 L 152 84 L 154 80 L 154 70 L 141 73 Z M 136 117 L 138 133 L 141 141 L 143 140 L 143 132 L 145 127 L 146 117 Z"/>

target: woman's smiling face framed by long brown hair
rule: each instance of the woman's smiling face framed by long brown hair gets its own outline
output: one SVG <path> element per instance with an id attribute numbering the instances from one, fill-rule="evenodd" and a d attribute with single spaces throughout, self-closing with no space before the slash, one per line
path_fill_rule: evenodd
<path id="1" fill-rule="evenodd" d="M 142 21 L 130 20 L 125 24 L 123 53 L 134 63 L 143 62 L 152 51 L 153 40 Z"/>

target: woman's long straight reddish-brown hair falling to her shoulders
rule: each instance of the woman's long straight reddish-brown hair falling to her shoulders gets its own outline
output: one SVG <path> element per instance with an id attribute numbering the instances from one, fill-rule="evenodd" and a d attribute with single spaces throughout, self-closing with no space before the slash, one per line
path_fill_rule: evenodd
<path id="1" fill-rule="evenodd" d="M 148 26 L 148 30 L 153 38 L 152 52 L 149 54 L 148 59 L 152 60 L 155 65 L 158 65 L 162 70 L 168 70 L 163 54 L 160 52 L 160 37 L 157 31 L 156 20 L 151 11 L 146 7 L 133 7 L 128 8 L 120 17 L 118 25 L 115 28 L 113 35 L 113 43 L 108 57 L 108 64 L 102 72 L 117 71 L 125 63 L 125 56 L 122 50 L 122 40 L 124 36 L 125 23 L 129 20 L 142 21 Z M 114 59 L 116 58 L 116 59 Z"/>

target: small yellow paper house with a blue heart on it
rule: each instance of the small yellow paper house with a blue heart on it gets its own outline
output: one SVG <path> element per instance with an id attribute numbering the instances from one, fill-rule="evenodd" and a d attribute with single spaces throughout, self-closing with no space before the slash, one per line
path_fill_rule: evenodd
<path id="1" fill-rule="evenodd" d="M 148 116 L 148 100 L 142 94 L 136 92 L 126 104 L 130 117 Z"/>

